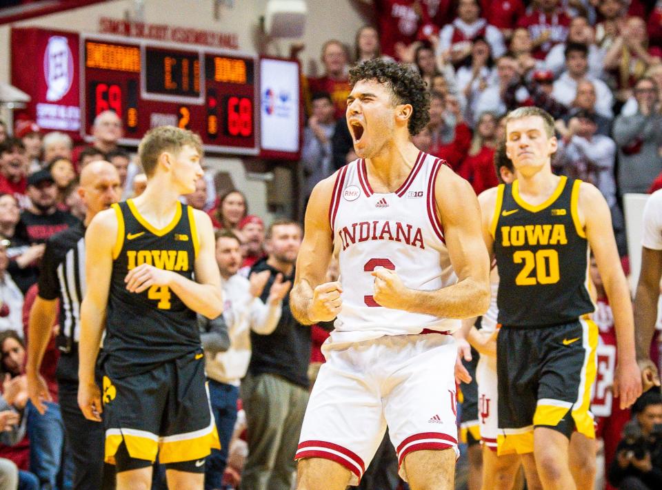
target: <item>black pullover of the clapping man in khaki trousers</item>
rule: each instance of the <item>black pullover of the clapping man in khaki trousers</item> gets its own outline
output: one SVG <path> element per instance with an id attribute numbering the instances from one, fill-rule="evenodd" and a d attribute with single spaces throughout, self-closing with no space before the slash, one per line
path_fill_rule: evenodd
<path id="1" fill-rule="evenodd" d="M 261 300 L 265 303 L 269 297 L 269 290 L 279 271 L 267 264 L 263 258 L 256 263 L 250 272 L 268 270 L 271 276 L 262 292 Z M 292 276 L 283 280 L 294 281 Z M 308 389 L 308 364 L 310 363 L 310 327 L 301 325 L 294 320 L 290 312 L 290 296 L 283 298 L 283 313 L 276 329 L 269 335 L 250 332 L 252 355 L 248 373 L 252 376 L 259 374 L 276 374 L 286 380 Z"/>

